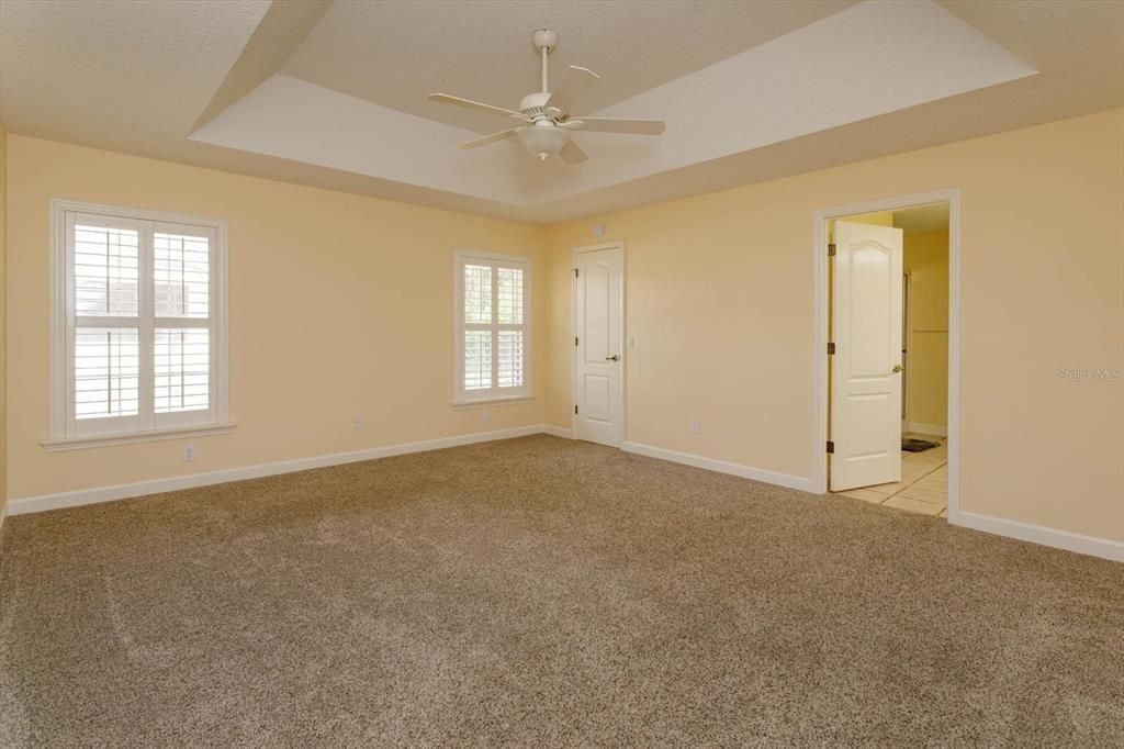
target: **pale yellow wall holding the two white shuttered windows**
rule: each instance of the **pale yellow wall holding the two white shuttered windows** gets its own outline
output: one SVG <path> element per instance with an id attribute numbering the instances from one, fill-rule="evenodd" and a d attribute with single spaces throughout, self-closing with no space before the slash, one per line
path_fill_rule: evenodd
<path id="1" fill-rule="evenodd" d="M 487 425 L 450 403 L 453 249 L 527 255 L 543 288 L 543 228 L 19 135 L 7 153 L 12 498 L 542 423 L 541 396 L 490 407 Z M 228 219 L 233 433 L 43 450 L 52 197 Z M 549 301 L 533 294 L 533 333 Z M 541 391 L 545 349 L 533 351 Z"/>

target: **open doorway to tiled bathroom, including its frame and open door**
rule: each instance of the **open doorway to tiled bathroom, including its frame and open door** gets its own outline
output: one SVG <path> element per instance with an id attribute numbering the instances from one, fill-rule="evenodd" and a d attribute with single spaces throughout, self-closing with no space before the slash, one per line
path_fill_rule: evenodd
<path id="1" fill-rule="evenodd" d="M 958 234 L 954 191 L 817 215 L 817 490 L 958 521 Z"/>

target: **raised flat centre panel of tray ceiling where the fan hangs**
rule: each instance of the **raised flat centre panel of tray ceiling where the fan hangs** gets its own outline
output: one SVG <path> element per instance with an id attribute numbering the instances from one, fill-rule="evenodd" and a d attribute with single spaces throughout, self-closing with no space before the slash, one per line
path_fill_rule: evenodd
<path id="1" fill-rule="evenodd" d="M 292 78 L 477 132 L 487 115 L 426 99 L 444 91 L 511 109 L 540 89 L 536 28 L 559 44 L 554 71 L 602 75 L 586 114 L 667 83 L 854 4 L 854 0 L 383 0 L 337 2 L 281 69 Z M 553 87 L 553 83 L 552 83 Z M 504 123 L 501 121 L 502 126 Z"/>

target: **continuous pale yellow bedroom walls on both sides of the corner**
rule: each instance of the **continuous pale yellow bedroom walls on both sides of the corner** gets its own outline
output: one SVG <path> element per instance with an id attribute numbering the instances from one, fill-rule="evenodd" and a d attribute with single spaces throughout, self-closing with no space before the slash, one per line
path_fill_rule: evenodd
<path id="1" fill-rule="evenodd" d="M 1124 539 L 1124 110 L 546 229 L 9 136 L 11 497 L 482 428 L 569 426 L 570 250 L 624 238 L 626 434 L 812 473 L 812 216 L 962 190 L 961 508 Z M 230 225 L 234 433 L 46 453 L 47 199 Z M 607 226 L 605 237 L 589 227 Z M 452 249 L 528 254 L 540 398 L 454 410 Z M 294 355 L 299 354 L 299 355 Z M 351 428 L 353 415 L 364 430 Z M 697 418 L 701 432 L 688 433 Z M 1079 482 L 1075 478 L 1079 477 Z M 1079 489 L 1075 489 L 1079 487 Z"/>

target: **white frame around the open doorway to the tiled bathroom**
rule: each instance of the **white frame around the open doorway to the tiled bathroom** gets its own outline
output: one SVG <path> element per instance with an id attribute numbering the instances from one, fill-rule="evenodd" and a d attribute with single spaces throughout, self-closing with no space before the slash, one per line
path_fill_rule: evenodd
<path id="1" fill-rule="evenodd" d="M 812 490 L 827 491 L 827 222 L 949 204 L 949 523 L 960 525 L 960 188 L 823 208 L 813 215 Z"/>

